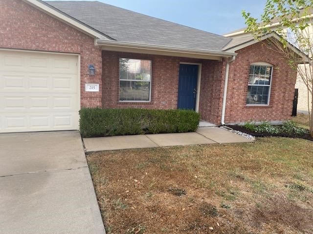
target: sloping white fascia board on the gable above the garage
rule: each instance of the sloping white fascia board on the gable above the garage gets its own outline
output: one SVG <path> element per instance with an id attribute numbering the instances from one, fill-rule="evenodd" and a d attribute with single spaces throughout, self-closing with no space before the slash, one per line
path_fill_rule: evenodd
<path id="1" fill-rule="evenodd" d="M 69 16 L 67 16 L 66 14 L 62 14 L 61 12 L 54 10 L 52 7 L 46 5 L 48 3 L 44 3 L 41 0 L 22 0 L 36 8 L 38 8 L 39 10 L 45 12 L 46 14 L 61 20 L 65 23 L 67 23 L 68 25 L 76 28 L 77 30 L 93 37 L 93 38 L 99 38 L 99 39 L 107 39 L 110 40 L 109 37 L 107 37 L 104 34 L 101 34 L 100 32 L 88 27 L 87 25 L 85 25 L 84 23 L 80 22 L 79 20 L 75 20 Z"/>

